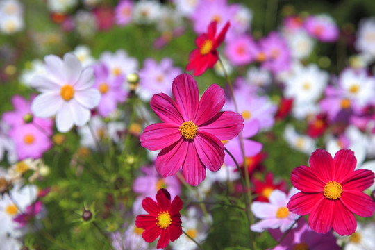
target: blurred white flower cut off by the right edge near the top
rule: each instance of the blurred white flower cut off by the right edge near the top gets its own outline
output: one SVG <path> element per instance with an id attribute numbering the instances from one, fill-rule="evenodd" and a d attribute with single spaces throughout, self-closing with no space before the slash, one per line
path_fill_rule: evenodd
<path id="1" fill-rule="evenodd" d="M 375 17 L 361 20 L 357 33 L 356 49 L 375 58 Z"/>

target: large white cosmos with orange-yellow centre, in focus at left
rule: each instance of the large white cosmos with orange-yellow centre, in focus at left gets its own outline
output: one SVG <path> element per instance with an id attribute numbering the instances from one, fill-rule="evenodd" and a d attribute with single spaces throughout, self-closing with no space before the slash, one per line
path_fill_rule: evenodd
<path id="1" fill-rule="evenodd" d="M 92 88 L 94 73 L 91 67 L 82 69 L 78 58 L 66 53 L 45 56 L 47 74 L 34 76 L 31 86 L 42 94 L 35 97 L 31 111 L 37 117 L 56 115 L 60 132 L 69 131 L 74 124 L 83 126 L 90 119 L 90 109 L 98 105 L 100 93 Z"/>

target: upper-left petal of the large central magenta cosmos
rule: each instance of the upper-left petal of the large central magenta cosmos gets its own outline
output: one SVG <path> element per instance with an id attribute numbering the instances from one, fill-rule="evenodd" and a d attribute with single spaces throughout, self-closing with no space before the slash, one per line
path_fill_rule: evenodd
<path id="1" fill-rule="evenodd" d="M 178 126 L 181 126 L 184 122 L 176 103 L 167 94 L 154 94 L 150 106 L 163 122 L 177 124 Z"/>

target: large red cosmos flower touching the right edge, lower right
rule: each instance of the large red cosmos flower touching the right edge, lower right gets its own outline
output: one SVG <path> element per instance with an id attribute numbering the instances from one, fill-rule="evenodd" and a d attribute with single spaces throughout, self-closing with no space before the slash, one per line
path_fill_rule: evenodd
<path id="1" fill-rule="evenodd" d="M 353 151 L 341 149 L 332 159 L 330 153 L 317 149 L 310 157 L 310 167 L 300 166 L 292 171 L 290 181 L 301 192 L 288 203 L 290 212 L 307 215 L 310 227 L 317 233 L 331 228 L 339 235 L 356 231 L 353 213 L 372 216 L 375 203 L 363 193 L 374 183 L 375 174 L 356 168 Z"/>

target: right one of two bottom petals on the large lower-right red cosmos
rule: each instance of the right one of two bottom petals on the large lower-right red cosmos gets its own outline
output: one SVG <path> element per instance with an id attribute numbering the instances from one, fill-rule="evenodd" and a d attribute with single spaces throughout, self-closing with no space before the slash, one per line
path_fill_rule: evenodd
<path id="1" fill-rule="evenodd" d="M 336 203 L 333 230 L 339 235 L 351 235 L 356 228 L 357 222 L 354 215 L 341 202 Z"/>

